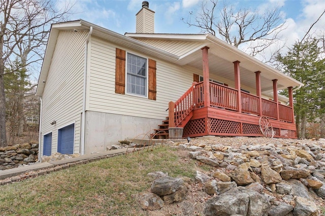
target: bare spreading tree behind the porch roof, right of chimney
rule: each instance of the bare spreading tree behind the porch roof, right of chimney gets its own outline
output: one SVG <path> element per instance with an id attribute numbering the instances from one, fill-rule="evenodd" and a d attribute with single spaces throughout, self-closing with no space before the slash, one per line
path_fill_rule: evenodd
<path id="1" fill-rule="evenodd" d="M 202 33 L 219 35 L 235 47 L 247 44 L 246 50 L 252 56 L 261 54 L 278 41 L 285 24 L 278 7 L 263 13 L 249 9 L 235 11 L 233 5 L 223 4 L 220 8 L 217 0 L 202 1 L 198 14 L 190 12 L 188 18 L 182 20 L 189 26 L 201 28 Z"/>

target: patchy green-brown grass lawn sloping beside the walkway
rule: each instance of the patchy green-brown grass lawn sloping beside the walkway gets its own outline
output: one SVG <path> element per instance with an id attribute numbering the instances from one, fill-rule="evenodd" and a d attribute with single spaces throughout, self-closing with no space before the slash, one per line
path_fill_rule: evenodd
<path id="1" fill-rule="evenodd" d="M 194 161 L 158 147 L 0 186 L 0 215 L 147 215 L 138 195 L 147 173 L 194 178 Z"/>

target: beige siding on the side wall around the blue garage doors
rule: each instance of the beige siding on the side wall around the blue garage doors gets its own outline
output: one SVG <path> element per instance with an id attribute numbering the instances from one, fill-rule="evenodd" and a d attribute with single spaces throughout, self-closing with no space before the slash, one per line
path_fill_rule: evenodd
<path id="1" fill-rule="evenodd" d="M 74 152 L 80 151 L 83 73 L 86 31 L 58 34 L 43 92 L 43 136 L 52 132 L 52 153 L 57 152 L 58 130 L 75 124 Z M 50 122 L 56 121 L 55 125 Z M 43 153 L 43 146 L 40 149 Z"/>

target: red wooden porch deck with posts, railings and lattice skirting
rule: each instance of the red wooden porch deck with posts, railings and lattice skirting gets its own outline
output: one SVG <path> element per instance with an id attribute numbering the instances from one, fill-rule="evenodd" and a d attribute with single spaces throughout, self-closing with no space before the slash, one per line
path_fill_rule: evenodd
<path id="1" fill-rule="evenodd" d="M 203 81 L 193 82 L 179 100 L 169 103 L 169 128 L 184 128 L 183 137 L 264 136 L 260 128 L 261 117 L 263 117 L 267 118 L 272 125 L 273 137 L 297 138 L 293 86 L 287 86 L 288 105 L 278 100 L 278 86 L 281 86 L 281 89 L 285 88 L 283 84 L 285 80 L 281 80 L 281 84 L 278 83 L 277 78 L 281 77 L 281 74 L 276 74 L 277 76 L 272 79 L 272 74 L 261 77 L 262 72 L 259 70 L 255 72 L 250 70 L 249 73 L 244 69 L 245 86 L 252 83 L 252 74 L 254 74 L 256 94 L 250 94 L 241 88 L 239 60 L 233 61 L 234 72 L 226 73 L 226 76 L 233 74 L 234 77 L 234 87 L 229 87 L 210 80 L 209 47 L 205 46 L 201 50 Z M 214 67 L 216 65 L 213 61 L 214 57 L 210 58 L 211 60 L 211 65 Z M 271 98 L 270 95 L 265 96 L 267 91 L 273 91 Z"/>

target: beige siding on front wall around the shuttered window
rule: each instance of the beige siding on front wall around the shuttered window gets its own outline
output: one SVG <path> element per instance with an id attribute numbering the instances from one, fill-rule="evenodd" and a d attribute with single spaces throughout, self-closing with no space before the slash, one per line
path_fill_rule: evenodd
<path id="1" fill-rule="evenodd" d="M 176 101 L 191 86 L 197 70 L 178 67 L 159 59 L 156 65 L 156 101 L 115 94 L 115 48 L 98 38 L 91 40 L 89 104 L 87 109 L 113 114 L 162 119 L 168 115 L 168 103 Z M 127 52 L 149 58 L 133 50 Z"/>

